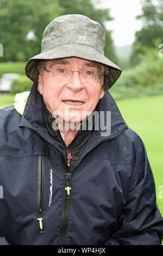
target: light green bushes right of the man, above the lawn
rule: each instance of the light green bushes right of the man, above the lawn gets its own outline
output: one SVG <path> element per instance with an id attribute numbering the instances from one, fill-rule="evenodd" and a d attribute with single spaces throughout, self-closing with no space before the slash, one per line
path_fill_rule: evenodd
<path id="1" fill-rule="evenodd" d="M 109 90 L 115 99 L 163 94 L 163 57 L 158 49 L 147 51 L 142 62 L 122 70 L 121 77 Z"/>

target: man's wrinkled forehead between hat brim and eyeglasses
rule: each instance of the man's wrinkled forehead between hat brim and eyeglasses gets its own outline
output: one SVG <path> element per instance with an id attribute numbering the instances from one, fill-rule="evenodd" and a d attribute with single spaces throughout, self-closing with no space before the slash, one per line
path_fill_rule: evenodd
<path id="1" fill-rule="evenodd" d="M 98 69 L 102 68 L 102 64 L 98 63 L 98 62 L 93 62 L 91 60 L 87 60 L 87 59 L 82 59 L 82 58 L 77 58 L 77 57 L 69 57 L 69 58 L 60 58 L 60 59 L 52 59 L 52 60 L 47 60 L 46 64 L 48 65 L 49 68 L 53 68 L 53 66 L 55 65 L 67 65 L 67 66 L 71 66 L 74 64 L 78 64 L 79 66 L 81 66 L 81 68 L 83 67 L 96 67 Z"/>

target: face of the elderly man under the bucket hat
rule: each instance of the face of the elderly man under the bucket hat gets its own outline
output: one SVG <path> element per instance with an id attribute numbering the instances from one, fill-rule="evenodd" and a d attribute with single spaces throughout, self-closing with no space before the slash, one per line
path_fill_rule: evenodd
<path id="1" fill-rule="evenodd" d="M 75 71 L 98 70 L 99 68 L 93 64 L 95 63 L 90 60 L 70 57 L 59 61 L 47 60 L 45 68 L 59 72 L 64 72 L 65 68 Z M 59 115 L 65 121 L 79 122 L 86 117 L 86 113 L 94 111 L 99 99 L 104 96 L 103 78 L 101 80 L 97 78 L 92 83 L 81 73 L 71 72 L 67 81 L 62 80 L 65 78 L 58 78 L 54 76 L 54 72 L 44 70 L 43 75 L 39 75 L 37 90 L 43 96 L 48 110 L 52 114 L 55 113 L 55 117 Z"/>

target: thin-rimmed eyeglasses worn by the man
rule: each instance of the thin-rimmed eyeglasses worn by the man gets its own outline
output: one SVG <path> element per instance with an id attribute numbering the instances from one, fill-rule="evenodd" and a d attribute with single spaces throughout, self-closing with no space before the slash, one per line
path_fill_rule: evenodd
<path id="1" fill-rule="evenodd" d="M 47 72 L 52 72 L 53 77 L 55 78 L 55 81 L 60 81 L 60 82 L 64 82 L 64 81 L 68 81 L 70 80 L 73 72 L 78 72 L 79 75 L 82 75 L 82 78 L 86 81 L 86 82 L 100 82 L 101 78 L 103 76 L 103 72 L 101 70 L 97 70 L 97 69 L 81 69 L 81 70 L 70 70 L 67 68 L 53 68 L 52 70 L 47 70 L 45 67 L 43 68 L 45 69 Z"/>

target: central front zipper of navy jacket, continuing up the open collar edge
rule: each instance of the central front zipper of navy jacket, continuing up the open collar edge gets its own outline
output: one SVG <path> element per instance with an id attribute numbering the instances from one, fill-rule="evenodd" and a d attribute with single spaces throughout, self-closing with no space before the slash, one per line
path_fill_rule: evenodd
<path id="1" fill-rule="evenodd" d="M 74 170 L 78 167 L 79 163 L 82 162 L 84 157 L 93 149 L 95 149 L 99 144 L 115 139 L 118 136 L 120 136 L 123 132 L 125 132 L 128 129 L 128 126 L 125 126 L 120 132 L 117 132 L 115 135 L 105 138 L 102 141 L 98 142 L 95 146 L 93 146 L 91 149 L 86 151 L 86 153 L 83 155 L 82 159 L 76 164 L 76 166 L 73 168 L 72 172 L 67 172 L 67 166 L 65 165 L 65 162 L 63 160 L 63 157 L 59 151 L 59 156 L 61 160 L 61 166 L 62 169 L 64 170 L 64 175 L 65 175 L 65 190 L 64 190 L 64 201 L 62 205 L 62 220 L 61 220 L 61 229 L 60 229 L 60 239 L 59 239 L 59 245 L 65 245 L 66 244 L 66 233 L 67 233 L 67 224 L 68 224 L 68 213 L 69 213 L 69 205 L 70 205 L 70 190 L 71 190 L 71 178 Z M 68 153 L 68 151 L 67 151 Z M 71 153 L 70 155 L 71 156 Z M 68 160 L 70 159 L 67 157 Z M 67 191 L 67 192 L 66 192 Z"/>

